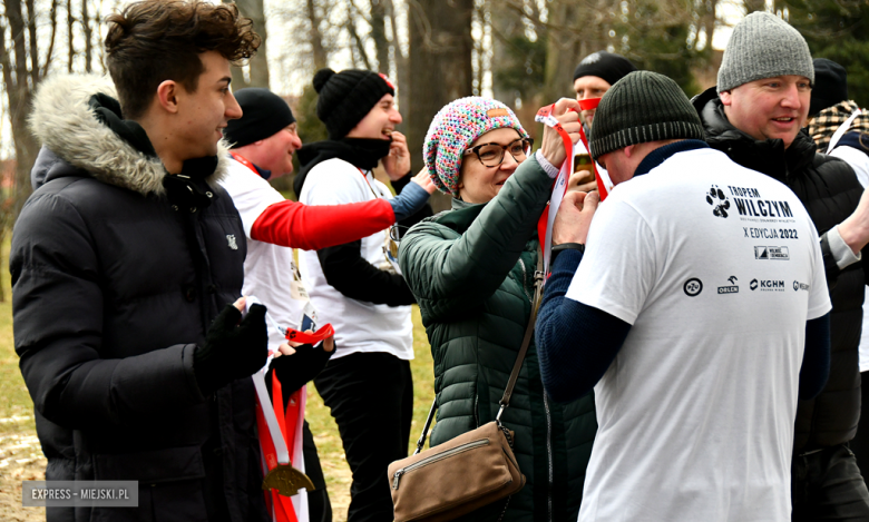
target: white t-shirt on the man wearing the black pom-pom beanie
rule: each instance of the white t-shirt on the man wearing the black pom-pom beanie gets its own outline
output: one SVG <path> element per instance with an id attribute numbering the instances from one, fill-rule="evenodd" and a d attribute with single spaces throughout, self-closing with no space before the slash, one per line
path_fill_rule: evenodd
<path id="1" fill-rule="evenodd" d="M 299 200 L 305 205 L 340 205 L 392 199 L 392 193 L 374 179 L 338 158 L 325 160 L 307 173 Z M 362 257 L 378 268 L 391 267 L 383 253 L 389 229 L 362 238 Z M 339 349 L 333 360 L 354 353 L 385 352 L 398 358 L 413 358 L 413 324 L 410 306 L 375 305 L 345 297 L 325 280 L 316 252 L 300 252 L 299 268 L 320 321 L 332 323 Z"/>

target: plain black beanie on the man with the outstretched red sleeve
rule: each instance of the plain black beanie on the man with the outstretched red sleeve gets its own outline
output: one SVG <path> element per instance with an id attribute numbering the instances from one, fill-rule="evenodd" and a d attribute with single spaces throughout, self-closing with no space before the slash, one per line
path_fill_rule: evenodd
<path id="1" fill-rule="evenodd" d="M 295 121 L 286 101 L 268 89 L 241 89 L 235 92 L 235 99 L 243 115 L 240 119 L 231 119 L 223 131 L 232 148 L 271 138 Z"/>

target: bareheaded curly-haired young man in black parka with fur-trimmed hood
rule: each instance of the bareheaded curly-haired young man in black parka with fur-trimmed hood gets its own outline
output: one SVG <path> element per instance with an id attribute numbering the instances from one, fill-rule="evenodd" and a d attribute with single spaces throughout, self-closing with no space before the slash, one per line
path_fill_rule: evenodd
<path id="1" fill-rule="evenodd" d="M 216 183 L 221 129 L 242 115 L 230 66 L 260 38 L 235 6 L 195 0 L 108 23 L 113 82 L 58 76 L 35 99 L 14 342 L 46 477 L 138 481 L 138 508 L 47 518 L 266 521 L 250 378 L 265 308 L 242 318 L 244 229 Z"/>

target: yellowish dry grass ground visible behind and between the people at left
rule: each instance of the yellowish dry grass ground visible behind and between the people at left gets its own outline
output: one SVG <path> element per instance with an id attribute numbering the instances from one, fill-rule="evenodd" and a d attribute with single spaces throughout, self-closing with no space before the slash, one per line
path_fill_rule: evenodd
<path id="1" fill-rule="evenodd" d="M 0 303 L 0 521 L 30 522 L 45 520 L 45 509 L 21 506 L 21 481 L 45 480 L 46 460 L 39 447 L 33 424 L 33 404 L 18 370 L 12 343 L 12 304 L 9 284 L 9 242 L 0 245 L 0 284 L 6 302 Z M 433 398 L 431 352 L 413 307 L 413 426 L 408 446 L 416 444 Z M 314 433 L 320 461 L 332 501 L 334 521 L 346 520 L 350 504 L 350 469 L 341 439 L 329 408 L 309 384 L 307 422 Z M 385 480 L 385 470 L 384 480 Z"/>

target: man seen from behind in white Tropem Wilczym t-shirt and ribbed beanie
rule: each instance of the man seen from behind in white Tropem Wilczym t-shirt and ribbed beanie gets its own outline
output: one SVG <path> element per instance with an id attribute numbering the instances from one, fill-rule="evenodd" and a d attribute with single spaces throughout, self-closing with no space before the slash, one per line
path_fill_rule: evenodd
<path id="1" fill-rule="evenodd" d="M 673 80 L 633 72 L 590 140 L 616 187 L 559 208 L 537 346 L 554 400 L 595 391 L 583 522 L 790 520 L 797 398 L 829 372 L 818 235 L 702 138 Z"/>

